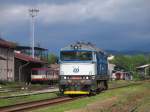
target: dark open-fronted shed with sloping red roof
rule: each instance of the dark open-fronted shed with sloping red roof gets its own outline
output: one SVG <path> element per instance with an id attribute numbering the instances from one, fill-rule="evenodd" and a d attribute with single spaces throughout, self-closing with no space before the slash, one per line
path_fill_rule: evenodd
<path id="1" fill-rule="evenodd" d="M 15 81 L 30 82 L 31 69 L 46 67 L 47 62 L 31 56 L 15 53 Z"/>

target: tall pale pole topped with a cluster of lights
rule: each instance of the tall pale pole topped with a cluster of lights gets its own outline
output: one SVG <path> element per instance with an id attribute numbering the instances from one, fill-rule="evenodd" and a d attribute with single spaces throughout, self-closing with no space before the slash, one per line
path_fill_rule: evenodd
<path id="1" fill-rule="evenodd" d="M 35 24 L 35 17 L 37 16 L 38 12 L 39 9 L 36 8 L 29 9 L 29 15 L 31 17 L 32 58 L 34 58 L 34 43 L 35 43 L 34 24 Z"/>

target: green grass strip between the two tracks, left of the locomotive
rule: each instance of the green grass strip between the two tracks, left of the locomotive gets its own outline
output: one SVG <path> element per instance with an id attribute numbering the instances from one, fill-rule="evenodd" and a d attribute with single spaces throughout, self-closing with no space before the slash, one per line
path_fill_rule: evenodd
<path id="1" fill-rule="evenodd" d="M 28 95 L 28 96 L 0 99 L 0 107 L 14 105 L 18 103 L 44 100 L 44 99 L 49 99 L 54 97 L 57 97 L 57 93 L 44 93 L 44 94 L 37 94 L 37 95 Z"/>

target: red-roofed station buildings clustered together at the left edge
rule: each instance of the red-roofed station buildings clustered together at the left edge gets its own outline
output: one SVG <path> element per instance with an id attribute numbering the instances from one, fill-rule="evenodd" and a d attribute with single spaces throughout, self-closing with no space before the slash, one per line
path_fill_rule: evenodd
<path id="1" fill-rule="evenodd" d="M 0 38 L 0 82 L 30 82 L 31 69 L 48 66 L 48 50 L 35 47 L 35 58 L 31 47 L 17 46 Z"/>

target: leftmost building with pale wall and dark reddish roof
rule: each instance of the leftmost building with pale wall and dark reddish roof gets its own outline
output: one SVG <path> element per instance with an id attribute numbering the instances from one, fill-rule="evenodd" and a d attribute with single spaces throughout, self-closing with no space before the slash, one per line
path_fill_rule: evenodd
<path id="1" fill-rule="evenodd" d="M 0 81 L 14 81 L 15 47 L 15 43 L 0 38 Z"/>

